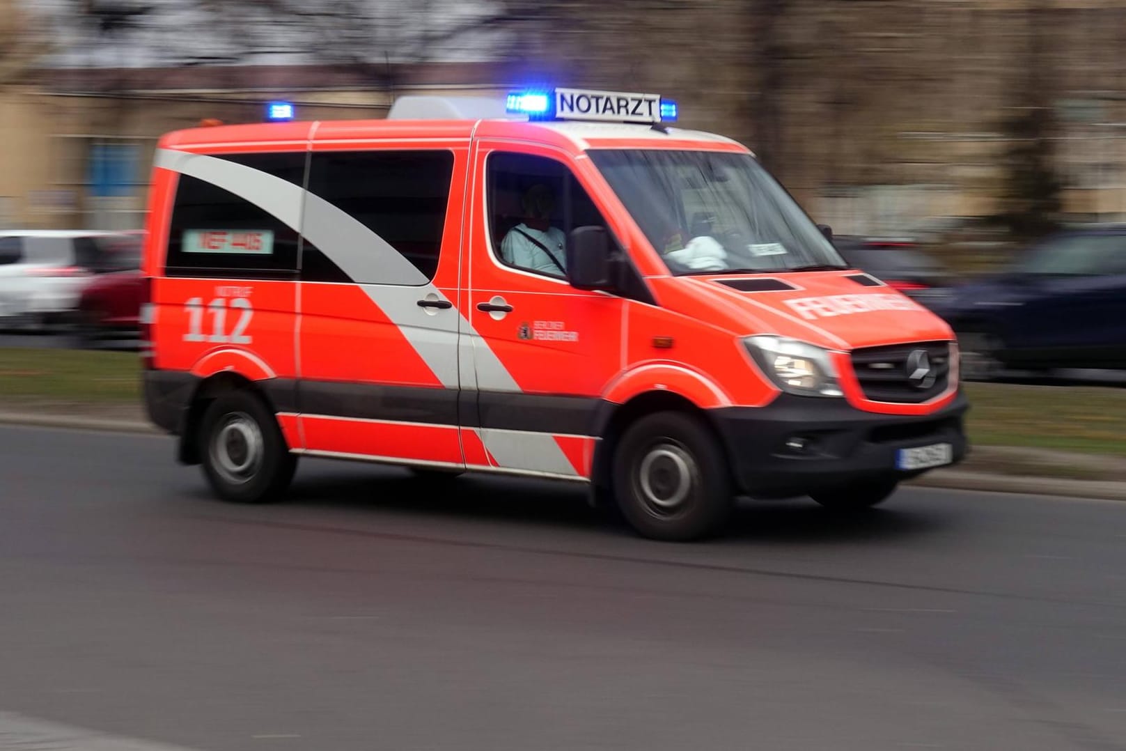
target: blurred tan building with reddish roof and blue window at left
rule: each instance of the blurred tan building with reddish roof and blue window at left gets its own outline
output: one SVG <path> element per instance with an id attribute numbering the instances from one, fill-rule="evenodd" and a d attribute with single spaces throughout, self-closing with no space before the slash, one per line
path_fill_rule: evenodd
<path id="1" fill-rule="evenodd" d="M 302 119 L 378 118 L 404 93 L 502 96 L 509 86 L 486 63 L 42 71 L 0 89 L 0 227 L 142 226 L 157 138 L 205 118 L 262 122 L 279 99 Z"/>

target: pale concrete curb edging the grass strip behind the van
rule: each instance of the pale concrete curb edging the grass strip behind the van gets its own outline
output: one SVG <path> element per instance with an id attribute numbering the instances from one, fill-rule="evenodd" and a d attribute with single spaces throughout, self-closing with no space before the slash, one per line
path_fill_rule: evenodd
<path id="1" fill-rule="evenodd" d="M 86 418 L 66 414 L 36 414 L 32 412 L 0 411 L 0 423 L 21 424 L 36 428 L 70 428 L 79 430 L 105 430 L 135 435 L 164 435 L 152 423 L 141 420 L 110 418 Z M 935 470 L 908 483 L 915 488 L 945 488 L 948 490 L 973 490 L 994 493 L 1025 493 L 1029 495 L 1060 495 L 1067 498 L 1094 498 L 1108 501 L 1126 501 L 1126 482 L 1067 480 L 1065 477 L 1038 477 L 960 470 Z"/>

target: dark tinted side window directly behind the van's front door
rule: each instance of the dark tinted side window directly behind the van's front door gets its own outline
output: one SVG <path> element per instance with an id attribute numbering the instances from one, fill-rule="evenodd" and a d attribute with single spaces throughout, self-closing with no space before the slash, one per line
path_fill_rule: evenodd
<path id="1" fill-rule="evenodd" d="M 429 280 L 438 270 L 453 175 L 449 151 L 320 152 L 312 157 L 309 191 L 355 217 Z M 301 267 L 310 281 L 400 283 L 393 269 L 384 278 L 352 279 L 311 243 Z M 378 269 L 373 274 L 379 277 Z"/>

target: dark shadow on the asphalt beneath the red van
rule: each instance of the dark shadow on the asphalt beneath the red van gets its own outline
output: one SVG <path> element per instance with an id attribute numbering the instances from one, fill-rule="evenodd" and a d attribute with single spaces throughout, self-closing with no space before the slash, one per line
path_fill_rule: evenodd
<path id="1" fill-rule="evenodd" d="M 722 538 L 756 545 L 872 543 L 945 533 L 956 522 L 954 512 L 913 501 L 904 493 L 884 508 L 841 513 L 810 499 L 743 500 Z M 635 537 L 619 519 L 591 508 L 584 486 L 488 475 L 421 479 L 399 468 L 314 470 L 298 474 L 286 503 Z"/>

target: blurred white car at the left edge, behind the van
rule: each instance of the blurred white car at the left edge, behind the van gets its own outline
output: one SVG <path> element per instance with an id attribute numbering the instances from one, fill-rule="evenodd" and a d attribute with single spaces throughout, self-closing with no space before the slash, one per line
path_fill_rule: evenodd
<path id="1" fill-rule="evenodd" d="M 0 329 L 68 322 L 96 274 L 138 259 L 138 233 L 0 230 Z"/>

